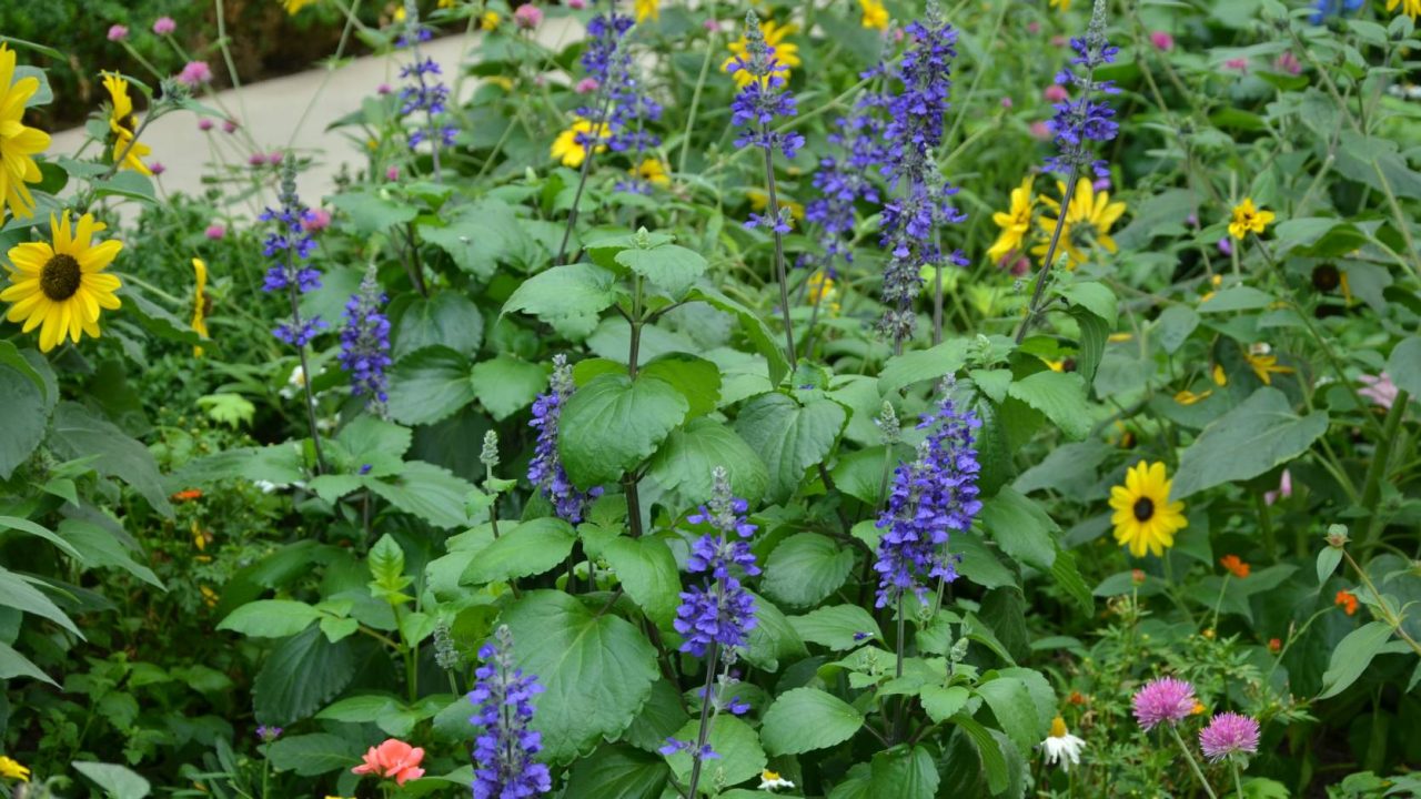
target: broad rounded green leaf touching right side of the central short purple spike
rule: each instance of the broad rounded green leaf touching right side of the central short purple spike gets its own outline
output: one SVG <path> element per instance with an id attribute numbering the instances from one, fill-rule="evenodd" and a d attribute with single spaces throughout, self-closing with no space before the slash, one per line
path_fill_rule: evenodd
<path id="1" fill-rule="evenodd" d="M 685 418 L 689 404 L 671 384 L 603 374 L 563 408 L 558 452 L 578 488 L 611 483 L 651 458 Z"/>

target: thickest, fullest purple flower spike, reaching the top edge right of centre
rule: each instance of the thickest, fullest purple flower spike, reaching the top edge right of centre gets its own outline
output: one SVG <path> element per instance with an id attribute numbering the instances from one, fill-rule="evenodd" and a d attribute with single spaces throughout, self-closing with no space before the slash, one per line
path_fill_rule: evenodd
<path id="1" fill-rule="evenodd" d="M 902 88 L 884 101 L 888 122 L 882 173 L 895 195 L 884 203 L 882 246 L 888 250 L 888 264 L 882 299 L 888 309 L 878 327 L 892 338 L 895 354 L 902 354 L 902 343 L 918 326 L 912 306 L 922 291 L 922 269 L 931 266 L 936 272 L 932 337 L 938 343 L 942 338 L 942 266 L 968 264 L 961 252 L 944 254 L 939 243 L 944 225 L 966 219 L 952 205 L 958 189 L 942 178 L 936 161 L 958 31 L 942 18 L 936 0 L 928 0 L 925 20 L 909 24 L 907 33 L 912 47 L 894 74 Z"/>

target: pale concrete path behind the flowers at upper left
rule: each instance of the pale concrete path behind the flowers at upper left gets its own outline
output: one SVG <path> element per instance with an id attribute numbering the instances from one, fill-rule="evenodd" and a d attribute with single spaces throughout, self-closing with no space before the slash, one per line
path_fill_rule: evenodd
<path id="1" fill-rule="evenodd" d="M 571 17 L 549 17 L 537 30 L 539 41 L 554 50 L 581 34 L 581 26 Z M 465 53 L 480 37 L 448 36 L 422 44 L 421 51 L 443 67 L 446 82 L 452 87 Z M 325 128 L 358 111 L 361 101 L 374 95 L 379 84 L 389 84 L 398 91 L 399 67 L 409 58 L 406 51 L 369 55 L 334 71 L 311 70 L 200 98 L 203 104 L 242 119 L 244 134 L 226 134 L 220 122 L 203 132 L 198 128 L 198 117 L 182 111 L 159 118 L 148 127 L 142 141 L 153 149 L 149 163 L 156 161 L 163 165 L 159 178 L 162 192 L 200 195 L 207 189 L 203 178 L 216 173 L 213 165 L 247 169 L 252 152 L 290 148 L 314 158 L 313 166 L 301 172 L 298 189 L 307 203 L 315 205 L 323 195 L 334 191 L 334 178 L 342 165 L 354 173 L 367 163 L 355 142 L 341 131 L 327 132 Z M 466 80 L 462 92 L 468 97 L 476 85 L 476 80 Z M 48 154 L 51 158 L 72 155 L 82 144 L 82 128 L 61 131 L 54 134 Z M 92 152 L 91 144 L 87 154 Z M 243 208 L 232 210 L 240 213 Z"/>

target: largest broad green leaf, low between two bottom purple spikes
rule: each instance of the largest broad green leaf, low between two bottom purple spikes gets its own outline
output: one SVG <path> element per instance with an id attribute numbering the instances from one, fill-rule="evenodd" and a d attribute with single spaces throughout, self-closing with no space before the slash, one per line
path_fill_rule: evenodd
<path id="1" fill-rule="evenodd" d="M 635 627 L 563 591 L 526 593 L 502 621 L 513 633 L 514 661 L 544 687 L 533 699 L 533 728 L 553 763 L 621 735 L 659 677 L 657 650 Z"/>

